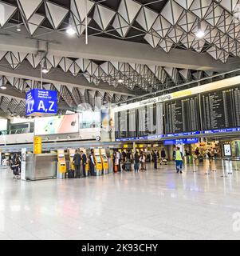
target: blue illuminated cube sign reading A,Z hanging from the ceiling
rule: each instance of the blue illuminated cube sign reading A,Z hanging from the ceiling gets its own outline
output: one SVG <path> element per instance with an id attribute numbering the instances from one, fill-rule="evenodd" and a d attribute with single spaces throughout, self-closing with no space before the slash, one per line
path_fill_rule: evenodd
<path id="1" fill-rule="evenodd" d="M 33 89 L 26 93 L 26 115 L 57 114 L 57 91 Z"/>

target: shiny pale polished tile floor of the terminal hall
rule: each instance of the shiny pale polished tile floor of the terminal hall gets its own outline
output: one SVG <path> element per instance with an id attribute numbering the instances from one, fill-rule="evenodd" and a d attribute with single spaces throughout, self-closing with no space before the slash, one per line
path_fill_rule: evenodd
<path id="1" fill-rule="evenodd" d="M 239 239 L 239 218 L 240 162 L 38 182 L 0 169 L 0 239 Z"/>

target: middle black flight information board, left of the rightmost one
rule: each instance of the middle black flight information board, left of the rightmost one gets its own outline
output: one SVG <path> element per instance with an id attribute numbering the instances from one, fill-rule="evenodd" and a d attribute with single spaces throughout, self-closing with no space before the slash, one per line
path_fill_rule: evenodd
<path id="1" fill-rule="evenodd" d="M 177 134 L 200 129 L 199 100 L 195 95 L 165 103 L 166 133 Z"/>

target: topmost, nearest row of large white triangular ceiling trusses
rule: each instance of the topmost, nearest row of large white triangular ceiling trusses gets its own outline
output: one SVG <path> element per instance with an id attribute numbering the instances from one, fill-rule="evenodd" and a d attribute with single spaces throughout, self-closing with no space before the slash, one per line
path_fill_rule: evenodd
<path id="1" fill-rule="evenodd" d="M 207 52 L 212 58 L 226 62 L 240 54 L 239 0 L 10 0 L 0 1 L 0 26 L 8 22 L 26 26 L 30 36 L 37 28 L 65 30 L 69 18 L 77 35 L 85 32 L 85 14 L 88 17 L 89 35 L 141 40 L 153 48 L 170 52 L 172 48 Z M 109 4 L 108 4 L 109 3 Z M 113 4 L 114 3 L 114 4 Z M 160 7 L 157 7 L 157 4 Z M 155 6 L 156 5 L 156 6 Z M 109 7 L 110 6 L 110 7 Z M 20 15 L 19 15 L 20 14 Z M 18 18 L 19 21 L 18 21 Z M 199 27 L 205 37 L 195 36 Z M 140 41 L 141 41 L 140 40 Z M 91 78 L 92 82 L 96 79 Z"/>

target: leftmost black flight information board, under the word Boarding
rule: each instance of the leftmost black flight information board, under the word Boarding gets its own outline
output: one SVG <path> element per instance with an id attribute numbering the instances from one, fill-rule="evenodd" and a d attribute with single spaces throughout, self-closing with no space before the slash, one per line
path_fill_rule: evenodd
<path id="1" fill-rule="evenodd" d="M 145 138 L 163 134 L 163 103 L 115 113 L 116 138 Z"/>

